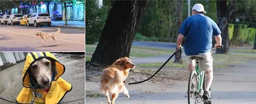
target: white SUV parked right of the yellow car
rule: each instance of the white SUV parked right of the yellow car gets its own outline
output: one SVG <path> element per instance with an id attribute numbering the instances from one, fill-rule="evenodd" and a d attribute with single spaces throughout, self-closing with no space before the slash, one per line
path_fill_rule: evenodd
<path id="1" fill-rule="evenodd" d="M 48 13 L 33 13 L 27 19 L 27 26 L 30 24 L 34 24 L 34 27 L 41 26 L 41 25 L 48 25 L 51 26 L 51 17 Z"/>

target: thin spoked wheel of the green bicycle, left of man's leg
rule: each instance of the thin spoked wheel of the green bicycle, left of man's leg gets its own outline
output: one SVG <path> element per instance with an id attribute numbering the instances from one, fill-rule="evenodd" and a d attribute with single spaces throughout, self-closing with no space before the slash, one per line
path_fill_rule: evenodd
<path id="1" fill-rule="evenodd" d="M 188 101 L 189 104 L 196 104 L 197 78 L 196 72 L 193 70 L 189 75 Z"/>

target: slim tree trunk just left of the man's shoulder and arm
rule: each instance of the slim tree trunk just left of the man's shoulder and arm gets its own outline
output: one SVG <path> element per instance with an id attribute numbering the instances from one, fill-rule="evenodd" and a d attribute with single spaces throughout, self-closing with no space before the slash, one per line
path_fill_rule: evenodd
<path id="1" fill-rule="evenodd" d="M 183 5 L 182 5 L 182 0 L 178 1 L 179 4 L 178 4 L 178 12 L 177 13 L 177 17 L 178 17 L 178 27 L 180 28 L 181 25 L 182 25 L 182 9 L 183 9 Z M 179 59 L 174 59 L 174 63 L 180 63 L 182 64 L 182 58 L 179 58 Z"/>

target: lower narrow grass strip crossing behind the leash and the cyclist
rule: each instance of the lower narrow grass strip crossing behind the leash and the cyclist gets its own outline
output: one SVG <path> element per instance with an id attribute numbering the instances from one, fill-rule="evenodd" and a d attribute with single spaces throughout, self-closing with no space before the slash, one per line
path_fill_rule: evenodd
<path id="1" fill-rule="evenodd" d="M 155 62 L 155 63 L 150 63 L 150 64 L 141 64 L 141 65 L 137 65 L 137 67 L 161 67 L 164 63 L 163 62 Z M 168 62 L 165 65 L 165 68 L 188 68 L 188 64 L 184 63 L 184 64 L 176 64 L 176 63 L 171 63 Z M 227 65 L 213 65 L 214 68 L 229 68 L 229 66 Z"/>

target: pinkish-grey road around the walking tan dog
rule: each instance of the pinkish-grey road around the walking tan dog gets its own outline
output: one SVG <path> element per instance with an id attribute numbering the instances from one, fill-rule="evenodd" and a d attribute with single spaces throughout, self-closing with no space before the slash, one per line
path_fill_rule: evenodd
<path id="1" fill-rule="evenodd" d="M 57 35 L 58 45 L 55 46 L 53 39 L 47 39 L 47 46 L 42 46 L 43 39 L 35 33 L 56 32 L 57 28 L 61 29 L 61 34 Z M 84 34 L 84 29 L 0 25 L 0 51 L 84 52 Z"/>

